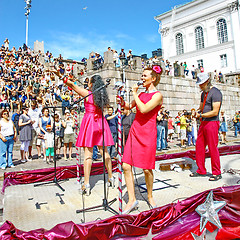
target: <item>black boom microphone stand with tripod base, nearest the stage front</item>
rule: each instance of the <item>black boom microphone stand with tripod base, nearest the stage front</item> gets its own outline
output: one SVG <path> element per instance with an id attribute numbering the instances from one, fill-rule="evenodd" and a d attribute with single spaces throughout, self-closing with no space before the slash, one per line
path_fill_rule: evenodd
<path id="1" fill-rule="evenodd" d="M 103 203 L 101 205 L 97 205 L 97 206 L 93 206 L 93 207 L 89 207 L 89 208 L 85 208 L 85 209 L 81 209 L 81 210 L 76 210 L 76 213 L 81 213 L 81 212 L 89 212 L 91 210 L 94 210 L 96 208 L 101 208 L 103 207 L 105 211 L 110 211 L 113 214 L 118 214 L 117 211 L 115 211 L 113 208 L 110 207 L 111 204 L 113 204 L 115 201 L 117 201 L 117 198 L 114 198 L 113 200 L 109 201 L 107 200 L 107 193 L 106 193 L 106 166 L 105 166 L 105 142 L 104 142 L 104 115 L 103 115 L 103 88 L 107 87 L 107 85 L 110 84 L 110 81 L 107 81 L 107 83 L 105 85 L 102 85 L 101 87 L 95 89 L 92 93 L 88 94 L 87 96 L 79 99 L 76 102 L 80 102 L 83 99 L 85 99 L 86 97 L 92 95 L 93 93 L 100 91 L 101 93 L 101 99 L 102 99 L 102 106 L 101 106 L 101 110 L 102 110 L 102 133 L 103 133 L 103 181 L 104 181 L 104 198 L 103 198 Z M 74 104 L 76 104 L 76 102 Z"/>

